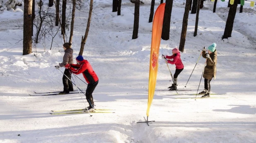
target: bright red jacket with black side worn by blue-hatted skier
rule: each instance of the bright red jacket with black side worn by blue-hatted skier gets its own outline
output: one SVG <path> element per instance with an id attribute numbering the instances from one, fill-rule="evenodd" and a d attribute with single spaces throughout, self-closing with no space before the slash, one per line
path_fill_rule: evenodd
<path id="1" fill-rule="evenodd" d="M 91 64 L 87 60 L 81 61 L 80 65 L 71 64 L 69 69 L 76 75 L 82 73 L 87 83 L 93 84 L 99 80 L 96 73 L 93 71 Z"/>

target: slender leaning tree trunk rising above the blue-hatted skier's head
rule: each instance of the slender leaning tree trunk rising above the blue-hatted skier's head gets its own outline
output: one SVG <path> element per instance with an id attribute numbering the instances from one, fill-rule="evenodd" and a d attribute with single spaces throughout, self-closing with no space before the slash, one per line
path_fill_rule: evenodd
<path id="1" fill-rule="evenodd" d="M 93 6 L 93 0 L 90 0 L 90 9 L 89 9 L 89 16 L 88 16 L 88 21 L 87 21 L 87 27 L 86 27 L 86 30 L 85 30 L 85 37 L 82 38 L 80 52 L 78 54 L 78 55 L 81 55 L 81 56 L 83 55 L 84 48 L 85 48 L 85 42 L 87 40 L 87 36 L 88 36 L 88 33 L 89 33 L 91 17 L 92 17 L 92 6 Z"/>

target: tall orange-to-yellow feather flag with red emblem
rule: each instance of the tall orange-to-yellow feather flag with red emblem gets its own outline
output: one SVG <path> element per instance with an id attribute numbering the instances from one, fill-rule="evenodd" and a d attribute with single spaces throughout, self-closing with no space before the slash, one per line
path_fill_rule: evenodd
<path id="1" fill-rule="evenodd" d="M 157 82 L 158 56 L 159 56 L 159 47 L 161 42 L 162 26 L 163 26 L 163 20 L 164 20 L 164 7 L 165 7 L 165 3 L 162 3 L 157 7 L 154 20 L 153 20 L 153 25 L 152 25 L 147 117 L 149 116 L 150 105 L 154 98 L 155 87 Z"/>

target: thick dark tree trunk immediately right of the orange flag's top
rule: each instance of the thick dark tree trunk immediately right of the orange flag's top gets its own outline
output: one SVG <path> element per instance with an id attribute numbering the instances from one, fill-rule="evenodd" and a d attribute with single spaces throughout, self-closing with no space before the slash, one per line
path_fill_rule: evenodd
<path id="1" fill-rule="evenodd" d="M 173 4 L 173 0 L 165 1 L 164 21 L 163 21 L 163 28 L 162 28 L 162 35 L 161 35 L 161 38 L 163 40 L 169 40 L 170 38 L 172 4 Z"/>

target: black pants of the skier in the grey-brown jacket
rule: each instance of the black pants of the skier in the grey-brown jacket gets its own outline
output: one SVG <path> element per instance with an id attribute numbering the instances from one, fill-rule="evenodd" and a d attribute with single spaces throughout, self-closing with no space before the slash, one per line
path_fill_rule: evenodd
<path id="1" fill-rule="evenodd" d="M 66 77 L 66 76 L 67 77 Z M 69 80 L 69 79 L 70 80 Z M 63 86 L 64 86 L 64 88 L 63 88 L 63 90 L 66 92 L 66 93 L 69 93 L 69 91 L 74 91 L 74 89 L 73 89 L 73 84 L 72 84 L 72 82 L 71 82 L 71 73 L 70 73 L 70 71 L 69 71 L 69 69 L 65 69 L 65 71 L 64 71 L 64 75 L 63 75 L 63 77 L 62 77 L 62 82 L 63 82 Z"/>

